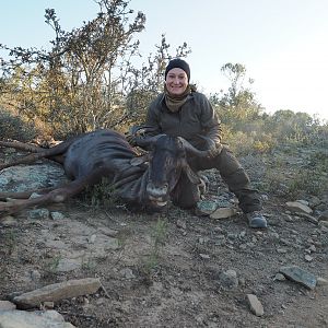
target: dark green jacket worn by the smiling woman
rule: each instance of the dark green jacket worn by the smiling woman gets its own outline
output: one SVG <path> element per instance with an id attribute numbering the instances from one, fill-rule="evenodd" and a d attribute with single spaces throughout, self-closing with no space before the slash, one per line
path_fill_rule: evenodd
<path id="1" fill-rule="evenodd" d="M 148 109 L 147 125 L 156 128 L 152 134 L 183 137 L 198 149 L 207 148 L 199 134 L 211 138 L 215 143 L 221 141 L 220 120 L 209 99 L 199 92 L 191 92 L 176 113 L 167 108 L 164 93 L 160 94 Z"/>

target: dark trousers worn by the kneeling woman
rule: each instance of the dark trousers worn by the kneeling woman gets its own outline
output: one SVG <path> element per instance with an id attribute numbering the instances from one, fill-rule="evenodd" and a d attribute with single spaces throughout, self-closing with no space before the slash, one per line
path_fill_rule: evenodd
<path id="1" fill-rule="evenodd" d="M 248 175 L 229 148 L 223 147 L 221 153 L 213 159 L 190 157 L 188 163 L 195 172 L 216 168 L 229 190 L 237 197 L 244 213 L 261 210 L 261 197 L 258 190 L 250 188 Z M 174 190 L 173 201 L 179 207 L 191 208 L 199 199 L 198 187 L 183 174 Z"/>

